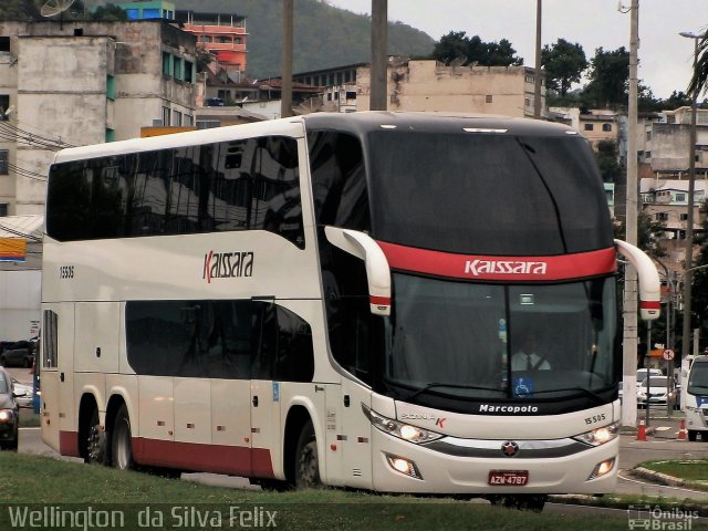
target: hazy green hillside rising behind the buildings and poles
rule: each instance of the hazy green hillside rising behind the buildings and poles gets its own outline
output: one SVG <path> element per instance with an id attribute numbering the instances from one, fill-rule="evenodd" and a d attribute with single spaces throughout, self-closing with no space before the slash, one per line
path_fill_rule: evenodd
<path id="1" fill-rule="evenodd" d="M 174 0 L 177 9 L 247 17 L 248 75 L 280 75 L 282 0 Z M 293 71 L 308 72 L 371 61 L 371 18 L 317 0 L 295 0 Z M 428 56 L 435 41 L 403 23 L 388 29 L 388 53 Z"/>

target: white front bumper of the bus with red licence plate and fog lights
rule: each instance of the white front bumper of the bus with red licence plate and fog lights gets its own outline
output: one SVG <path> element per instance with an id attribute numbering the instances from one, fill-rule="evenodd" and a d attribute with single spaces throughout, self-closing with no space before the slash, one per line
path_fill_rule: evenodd
<path id="1" fill-rule="evenodd" d="M 612 492 L 617 482 L 618 438 L 596 447 L 459 439 L 414 445 L 377 430 L 372 435 L 373 485 L 381 492 L 595 494 Z"/>

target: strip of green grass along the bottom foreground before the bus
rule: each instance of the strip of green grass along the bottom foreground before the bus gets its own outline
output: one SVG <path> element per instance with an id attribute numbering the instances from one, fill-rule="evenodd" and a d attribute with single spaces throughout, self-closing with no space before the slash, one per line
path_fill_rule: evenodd
<path id="1" fill-rule="evenodd" d="M 233 529 L 238 528 L 230 520 L 233 511 L 237 518 L 239 511 L 244 511 L 242 518 L 250 518 L 251 525 L 259 516 L 261 523 L 267 523 L 268 511 L 275 511 L 278 528 L 311 531 L 627 529 L 626 513 L 560 517 L 450 498 L 377 496 L 337 489 L 280 493 L 238 490 L 14 452 L 0 452 L 0 529 L 22 529 L 10 520 L 11 514 L 17 517 L 22 507 L 41 510 L 46 503 L 69 511 L 91 506 L 94 510 L 121 512 L 125 516 L 122 529 L 140 529 L 140 523 L 148 523 L 147 529 L 174 529 L 176 524 L 180 529 Z"/>

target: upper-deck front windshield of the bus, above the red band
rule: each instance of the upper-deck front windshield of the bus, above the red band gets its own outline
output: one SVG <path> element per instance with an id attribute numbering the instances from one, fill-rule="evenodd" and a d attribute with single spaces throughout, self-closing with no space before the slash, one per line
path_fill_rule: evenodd
<path id="1" fill-rule="evenodd" d="M 368 145 L 377 240 L 503 256 L 613 246 L 583 138 L 377 131 Z"/>

